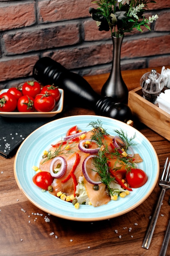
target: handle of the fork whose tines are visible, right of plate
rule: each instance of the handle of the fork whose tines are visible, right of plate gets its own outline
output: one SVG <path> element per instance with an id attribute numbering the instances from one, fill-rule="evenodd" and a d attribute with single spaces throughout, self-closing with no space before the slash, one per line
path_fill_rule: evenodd
<path id="1" fill-rule="evenodd" d="M 158 219 L 158 216 L 159 216 L 159 212 L 160 212 L 160 209 L 161 209 L 162 201 L 163 201 L 163 198 L 164 198 L 164 195 L 165 195 L 165 191 L 166 191 L 166 189 L 162 189 L 161 193 L 159 195 L 159 200 L 157 202 L 154 214 L 152 216 L 152 219 L 150 221 L 150 225 L 148 227 L 148 231 L 146 233 L 146 236 L 144 238 L 144 242 L 142 244 L 143 248 L 149 249 L 150 242 L 152 240 L 153 232 L 155 230 L 155 226 L 156 226 L 157 219 Z"/>

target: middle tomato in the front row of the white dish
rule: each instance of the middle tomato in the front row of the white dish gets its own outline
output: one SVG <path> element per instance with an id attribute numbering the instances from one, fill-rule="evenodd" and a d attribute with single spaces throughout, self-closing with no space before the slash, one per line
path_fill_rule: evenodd
<path id="1" fill-rule="evenodd" d="M 28 95 L 23 95 L 18 99 L 17 108 L 19 112 L 34 112 L 34 98 Z"/>

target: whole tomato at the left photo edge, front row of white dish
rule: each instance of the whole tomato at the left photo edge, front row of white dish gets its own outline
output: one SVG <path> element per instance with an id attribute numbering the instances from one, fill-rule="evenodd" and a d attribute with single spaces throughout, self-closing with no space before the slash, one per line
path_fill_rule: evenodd
<path id="1" fill-rule="evenodd" d="M 17 107 L 17 99 L 9 92 L 0 94 L 0 111 L 11 112 Z"/>

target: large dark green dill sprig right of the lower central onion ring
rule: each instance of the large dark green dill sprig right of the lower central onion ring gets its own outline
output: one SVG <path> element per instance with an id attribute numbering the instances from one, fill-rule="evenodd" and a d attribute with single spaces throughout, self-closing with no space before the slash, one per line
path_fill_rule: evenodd
<path id="1" fill-rule="evenodd" d="M 109 166 L 107 164 L 108 159 L 106 155 L 104 154 L 104 150 L 99 150 L 97 157 L 93 157 L 93 166 L 95 169 L 93 171 L 96 171 L 99 174 L 99 178 L 103 184 L 106 185 L 109 192 L 112 194 L 112 190 L 110 189 L 110 182 L 114 181 L 115 178 L 110 175 L 109 172 Z"/>

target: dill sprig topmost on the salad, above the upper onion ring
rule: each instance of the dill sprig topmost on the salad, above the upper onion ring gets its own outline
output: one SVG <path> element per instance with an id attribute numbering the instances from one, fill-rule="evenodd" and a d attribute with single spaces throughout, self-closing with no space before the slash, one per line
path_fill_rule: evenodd
<path id="1" fill-rule="evenodd" d="M 104 136 L 108 135 L 106 129 L 102 128 L 102 121 L 97 119 L 97 121 L 92 121 L 91 123 L 89 123 L 88 126 L 93 127 L 93 134 L 91 135 L 91 140 L 97 141 L 97 144 L 99 146 L 102 146 L 102 140 L 104 139 Z"/>

